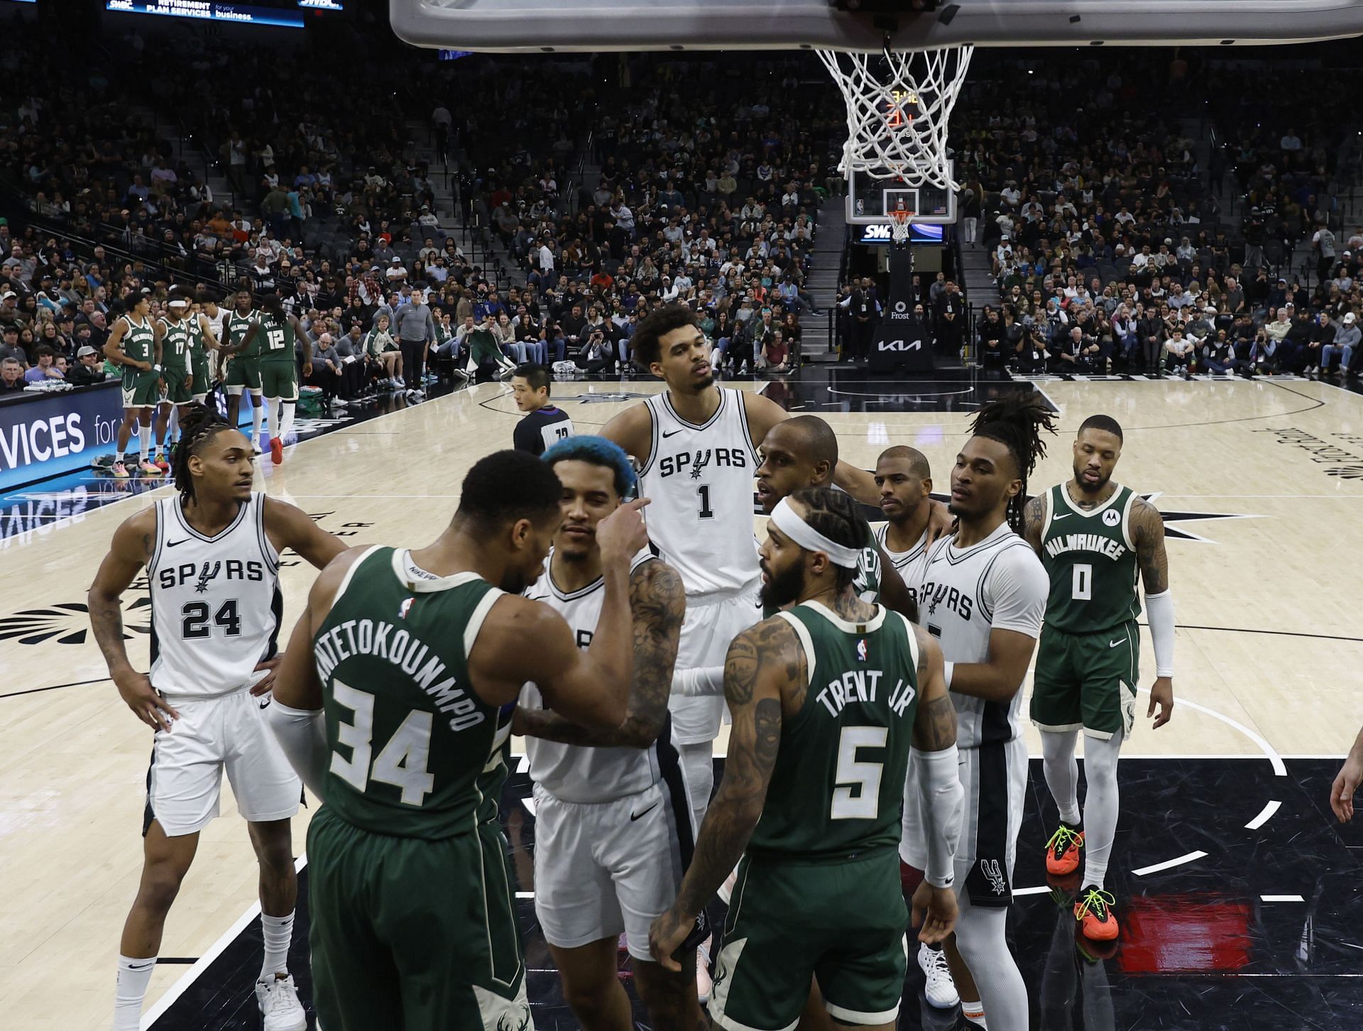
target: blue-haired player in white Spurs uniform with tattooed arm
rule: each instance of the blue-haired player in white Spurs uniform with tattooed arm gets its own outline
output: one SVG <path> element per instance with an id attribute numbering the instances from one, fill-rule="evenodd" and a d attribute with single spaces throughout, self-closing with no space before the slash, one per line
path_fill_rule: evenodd
<path id="1" fill-rule="evenodd" d="M 634 487 L 628 457 L 601 436 L 575 436 L 544 460 L 563 483 L 563 525 L 526 597 L 544 601 L 586 648 L 605 584 L 596 525 Z M 526 685 L 512 730 L 526 735 L 534 780 L 534 911 L 563 996 L 582 1027 L 630 1031 L 616 940 L 634 957 L 634 983 L 657 1031 L 699 1026 L 694 960 L 687 975 L 649 955 L 649 923 L 676 899 L 695 840 L 691 805 L 668 734 L 668 697 L 686 595 L 676 571 L 647 550 L 630 574 L 634 675 L 624 721 L 589 730 L 544 708 Z"/>

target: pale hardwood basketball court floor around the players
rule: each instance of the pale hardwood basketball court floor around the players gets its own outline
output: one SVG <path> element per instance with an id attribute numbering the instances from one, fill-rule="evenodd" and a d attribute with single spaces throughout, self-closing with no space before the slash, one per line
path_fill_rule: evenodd
<path id="1" fill-rule="evenodd" d="M 1040 386 L 1060 412 L 1060 434 L 1032 488 L 1067 477 L 1074 430 L 1105 412 L 1126 428 L 1118 479 L 1156 495 L 1167 513 L 1183 704 L 1157 734 L 1138 719 L 1127 756 L 1343 754 L 1363 720 L 1363 397 L 1300 380 Z M 653 380 L 589 380 L 559 385 L 556 398 L 590 432 L 657 389 Z M 851 461 L 870 466 L 891 443 L 919 447 L 940 490 L 973 405 L 994 387 L 807 370 L 799 383 L 765 389 L 793 410 L 827 419 Z M 469 465 L 510 445 L 515 419 L 507 389 L 481 385 L 307 440 L 285 465 L 266 462 L 258 483 L 356 544 L 423 544 L 454 511 Z M 68 607 L 83 604 L 114 526 L 164 490 L 0 543 L 5 1028 L 108 1023 L 119 930 L 140 866 L 150 736 L 105 679 L 89 634 L 78 633 L 85 614 Z M 313 573 L 286 563 L 281 576 L 292 627 Z M 142 663 L 144 603 L 142 584 L 125 604 L 129 649 Z M 1148 641 L 1142 667 L 1149 683 Z M 202 956 L 255 899 L 245 828 L 226 784 L 224 792 L 224 818 L 203 833 L 170 914 L 165 957 Z M 1127 805 L 1138 799 L 1129 795 Z M 296 826 L 300 851 L 305 818 Z M 159 966 L 149 1005 L 184 970 Z"/>

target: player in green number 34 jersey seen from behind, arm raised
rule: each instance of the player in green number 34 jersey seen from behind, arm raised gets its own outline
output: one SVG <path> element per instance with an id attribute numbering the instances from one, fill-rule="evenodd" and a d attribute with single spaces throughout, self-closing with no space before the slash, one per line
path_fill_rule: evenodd
<path id="1" fill-rule="evenodd" d="M 270 726 L 322 798 L 308 828 L 312 976 L 328 1028 L 530 1028 L 508 847 L 497 820 L 511 715 L 533 681 L 589 727 L 627 713 L 627 502 L 596 528 L 605 596 L 587 648 L 521 597 L 563 520 L 538 458 L 497 451 L 418 550 L 338 556 L 279 667 Z M 526 642 L 534 646 L 527 648 Z"/>

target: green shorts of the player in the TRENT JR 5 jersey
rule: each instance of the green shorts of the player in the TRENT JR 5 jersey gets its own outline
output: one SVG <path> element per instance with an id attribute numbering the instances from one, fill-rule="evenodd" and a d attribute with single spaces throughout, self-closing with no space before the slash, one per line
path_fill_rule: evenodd
<path id="1" fill-rule="evenodd" d="M 786 1031 L 818 976 L 834 1020 L 887 1024 L 904 994 L 908 923 L 893 848 L 841 863 L 744 856 L 710 1016 L 729 1031 Z"/>

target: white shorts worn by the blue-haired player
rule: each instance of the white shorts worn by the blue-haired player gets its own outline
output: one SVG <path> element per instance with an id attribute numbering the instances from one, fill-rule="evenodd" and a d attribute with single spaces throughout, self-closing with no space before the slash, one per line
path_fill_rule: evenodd
<path id="1" fill-rule="evenodd" d="M 695 840 L 686 787 L 669 780 L 596 803 L 536 784 L 534 912 L 547 942 L 575 949 L 623 931 L 630 955 L 653 961 L 649 925 L 676 899 Z"/>

